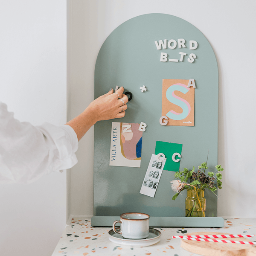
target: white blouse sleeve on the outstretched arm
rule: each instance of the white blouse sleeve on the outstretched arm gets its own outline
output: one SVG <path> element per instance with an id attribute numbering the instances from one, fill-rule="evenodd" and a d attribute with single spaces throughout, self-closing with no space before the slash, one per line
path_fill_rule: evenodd
<path id="1" fill-rule="evenodd" d="M 77 163 L 78 139 L 69 125 L 19 122 L 0 102 L 0 183 L 32 183 Z"/>

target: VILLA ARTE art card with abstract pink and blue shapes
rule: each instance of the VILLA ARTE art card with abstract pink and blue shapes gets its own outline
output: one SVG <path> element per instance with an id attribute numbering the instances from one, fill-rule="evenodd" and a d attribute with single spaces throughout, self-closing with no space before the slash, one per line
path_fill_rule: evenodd
<path id="1" fill-rule="evenodd" d="M 140 167 L 142 131 L 140 124 L 112 122 L 110 166 Z"/>

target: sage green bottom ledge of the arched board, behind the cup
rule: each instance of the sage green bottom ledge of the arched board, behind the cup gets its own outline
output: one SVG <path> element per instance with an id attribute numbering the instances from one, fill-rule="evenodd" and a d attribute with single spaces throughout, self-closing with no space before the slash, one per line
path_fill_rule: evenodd
<path id="1" fill-rule="evenodd" d="M 93 216 L 93 227 L 112 227 L 119 216 Z M 150 217 L 150 227 L 224 227 L 221 217 Z"/>

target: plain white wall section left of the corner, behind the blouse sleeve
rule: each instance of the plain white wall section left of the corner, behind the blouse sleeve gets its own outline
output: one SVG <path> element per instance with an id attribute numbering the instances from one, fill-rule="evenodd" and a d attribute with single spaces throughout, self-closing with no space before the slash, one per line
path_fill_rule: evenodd
<path id="1" fill-rule="evenodd" d="M 0 101 L 33 125 L 66 122 L 66 2 L 0 5 Z M 0 186 L 0 255 L 49 256 L 66 221 L 66 175 Z"/>

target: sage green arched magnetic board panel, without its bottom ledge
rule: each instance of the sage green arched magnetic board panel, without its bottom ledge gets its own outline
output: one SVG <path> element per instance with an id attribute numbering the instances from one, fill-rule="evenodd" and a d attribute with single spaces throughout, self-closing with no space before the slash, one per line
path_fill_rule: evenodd
<path id="1" fill-rule="evenodd" d="M 183 38 L 186 48 L 157 50 L 154 41 Z M 189 41 L 198 47 L 189 49 Z M 160 54 L 178 62 L 161 62 Z M 180 53 L 187 53 L 180 61 Z M 187 61 L 189 54 L 195 61 Z M 162 126 L 163 79 L 195 79 L 194 126 Z M 186 191 L 172 201 L 170 181 L 174 172 L 163 171 L 154 198 L 140 194 L 156 141 L 182 144 L 180 169 L 197 168 L 207 160 L 213 171 L 218 156 L 218 67 L 213 49 L 192 24 L 166 14 L 134 17 L 118 26 L 102 45 L 95 66 L 95 98 L 116 85 L 133 94 L 122 119 L 97 122 L 94 126 L 94 216 L 118 216 L 123 212 L 145 212 L 155 217 L 185 216 Z M 147 90 L 141 92 L 145 85 Z M 109 166 L 111 124 L 147 124 L 143 132 L 141 167 Z M 210 191 L 206 215 L 217 216 L 217 197 Z"/>

